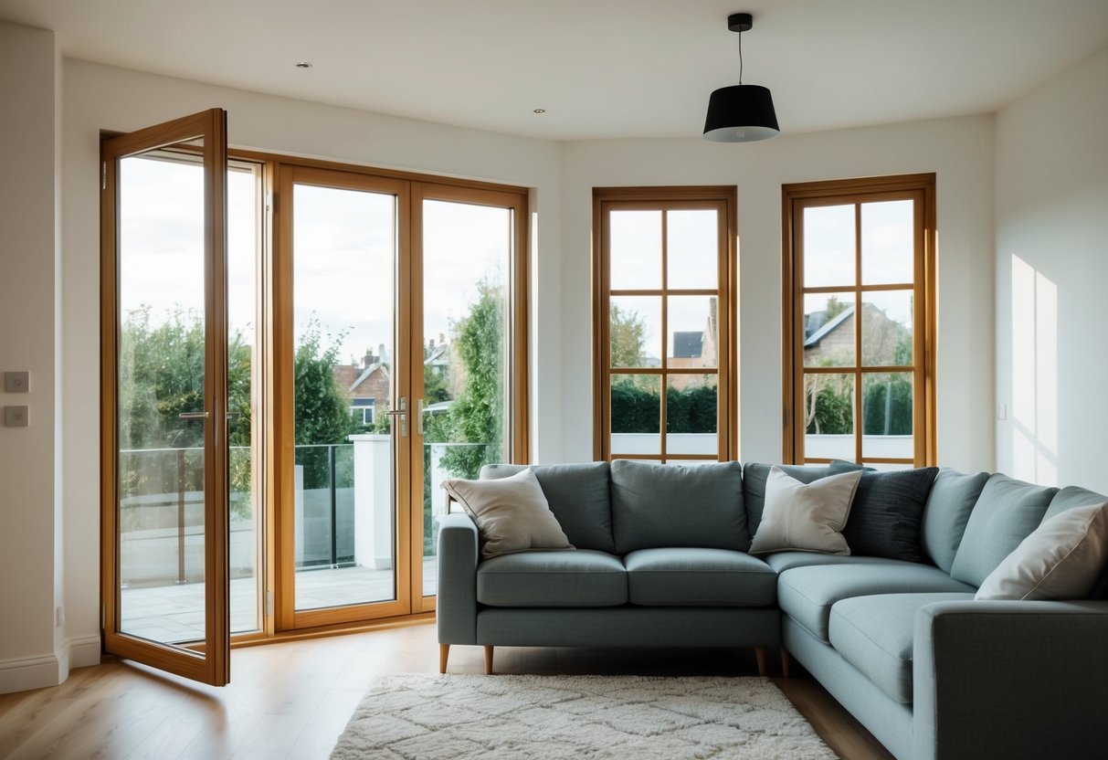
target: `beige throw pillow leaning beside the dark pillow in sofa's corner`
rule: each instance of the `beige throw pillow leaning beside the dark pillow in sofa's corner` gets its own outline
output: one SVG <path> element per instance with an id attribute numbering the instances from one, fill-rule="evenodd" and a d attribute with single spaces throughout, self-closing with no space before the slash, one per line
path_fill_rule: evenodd
<path id="1" fill-rule="evenodd" d="M 766 509 L 750 554 L 850 554 L 842 528 L 861 479 L 859 470 L 801 483 L 772 468 L 766 480 Z"/>

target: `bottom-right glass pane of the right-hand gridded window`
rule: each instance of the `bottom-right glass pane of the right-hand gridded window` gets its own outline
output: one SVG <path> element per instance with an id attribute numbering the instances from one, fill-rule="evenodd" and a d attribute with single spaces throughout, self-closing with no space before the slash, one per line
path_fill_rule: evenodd
<path id="1" fill-rule="evenodd" d="M 911 459 L 912 373 L 865 373 L 862 378 L 862 456 Z"/>

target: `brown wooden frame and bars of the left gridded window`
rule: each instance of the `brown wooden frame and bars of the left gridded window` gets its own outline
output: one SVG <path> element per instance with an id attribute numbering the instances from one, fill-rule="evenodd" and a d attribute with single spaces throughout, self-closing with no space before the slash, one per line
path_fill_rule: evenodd
<path id="1" fill-rule="evenodd" d="M 738 458 L 738 220 L 737 191 L 733 186 L 688 186 L 688 187 L 595 187 L 593 188 L 593 455 L 597 460 L 611 461 L 618 459 L 636 459 L 657 462 L 705 461 L 711 454 L 671 454 L 666 451 L 666 403 L 663 386 L 661 419 L 659 420 L 659 453 L 658 454 L 622 454 L 613 453 L 612 444 L 612 366 L 611 366 L 611 302 L 612 277 L 608 254 L 608 213 L 612 210 L 679 210 L 690 208 L 714 208 L 720 215 L 719 255 L 717 269 L 717 290 L 714 291 L 717 301 L 719 336 L 717 346 L 716 368 L 700 368 L 700 373 L 716 374 L 717 381 L 717 421 L 716 434 L 718 461 Z M 661 287 L 649 290 L 618 291 L 616 295 L 650 295 L 660 296 L 663 302 L 669 295 L 706 295 L 704 289 L 670 289 L 665 280 L 666 271 L 666 235 L 661 234 Z M 660 325 L 663 345 L 668 335 L 667 320 L 663 307 Z M 663 351 L 663 355 L 667 351 Z M 620 369 L 620 372 L 625 371 Z M 669 374 L 687 374 L 669 369 L 666 357 L 661 357 L 658 368 L 636 368 L 630 373 L 655 374 L 665 378 Z"/>

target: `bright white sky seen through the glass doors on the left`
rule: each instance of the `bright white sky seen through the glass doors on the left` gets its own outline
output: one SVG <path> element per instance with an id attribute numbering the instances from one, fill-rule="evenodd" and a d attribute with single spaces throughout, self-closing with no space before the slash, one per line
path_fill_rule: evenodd
<path id="1" fill-rule="evenodd" d="M 198 165 L 150 157 L 121 162 L 121 277 L 124 315 L 151 309 L 203 311 L 203 176 Z M 297 185 L 294 191 L 294 323 L 309 320 L 340 341 L 340 361 L 390 346 L 393 335 L 396 199 L 362 191 Z M 228 317 L 232 330 L 256 325 L 257 182 L 227 181 Z M 503 278 L 512 240 L 502 208 L 425 201 L 424 337 L 449 337 L 469 314 L 482 277 Z M 425 342 L 425 340 L 424 340 Z"/>

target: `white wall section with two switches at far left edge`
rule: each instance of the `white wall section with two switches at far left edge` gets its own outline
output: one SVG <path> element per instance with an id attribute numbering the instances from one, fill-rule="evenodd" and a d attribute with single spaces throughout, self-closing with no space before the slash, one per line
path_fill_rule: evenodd
<path id="1" fill-rule="evenodd" d="M 58 677 L 54 654 L 54 288 L 57 235 L 53 32 L 0 22 L 0 372 L 30 372 L 27 428 L 0 427 L 0 692 Z M 60 558 L 58 558 L 60 562 Z M 58 584 L 60 586 L 60 584 Z"/>

